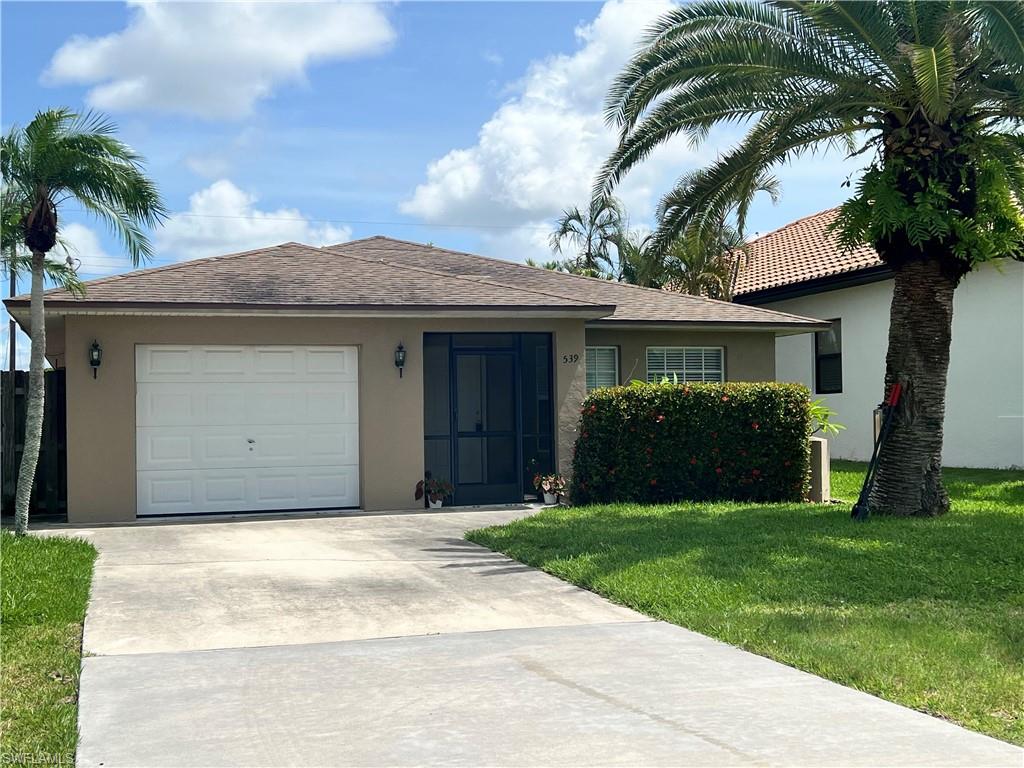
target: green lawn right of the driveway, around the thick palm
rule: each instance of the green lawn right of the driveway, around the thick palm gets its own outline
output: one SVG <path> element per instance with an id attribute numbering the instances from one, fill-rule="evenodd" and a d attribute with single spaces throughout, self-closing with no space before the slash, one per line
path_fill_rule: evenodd
<path id="1" fill-rule="evenodd" d="M 864 465 L 833 466 L 854 500 Z M 651 616 L 1024 744 L 1024 472 L 950 469 L 938 519 L 850 505 L 552 509 L 467 535 Z"/>

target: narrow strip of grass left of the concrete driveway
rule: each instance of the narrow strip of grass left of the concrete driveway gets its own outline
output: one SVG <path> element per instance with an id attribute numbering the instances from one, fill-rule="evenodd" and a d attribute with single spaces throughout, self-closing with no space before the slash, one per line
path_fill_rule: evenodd
<path id="1" fill-rule="evenodd" d="M 0 531 L 0 764 L 74 765 L 91 544 Z"/>

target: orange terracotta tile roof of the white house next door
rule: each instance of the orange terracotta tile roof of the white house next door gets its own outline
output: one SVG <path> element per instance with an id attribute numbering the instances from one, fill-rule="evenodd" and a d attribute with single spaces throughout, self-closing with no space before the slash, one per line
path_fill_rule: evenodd
<path id="1" fill-rule="evenodd" d="M 838 212 L 833 208 L 806 216 L 753 241 L 750 258 L 736 272 L 734 293 L 740 296 L 881 265 L 870 246 L 843 251 L 825 231 Z"/>

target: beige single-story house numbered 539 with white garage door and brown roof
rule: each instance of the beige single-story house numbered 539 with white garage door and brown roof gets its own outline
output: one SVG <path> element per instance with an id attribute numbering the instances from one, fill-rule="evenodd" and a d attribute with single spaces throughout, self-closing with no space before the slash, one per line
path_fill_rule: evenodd
<path id="1" fill-rule="evenodd" d="M 776 336 L 826 327 L 387 238 L 50 291 L 46 324 L 72 522 L 409 508 L 425 471 L 519 502 L 569 470 L 588 386 L 771 380 Z"/>

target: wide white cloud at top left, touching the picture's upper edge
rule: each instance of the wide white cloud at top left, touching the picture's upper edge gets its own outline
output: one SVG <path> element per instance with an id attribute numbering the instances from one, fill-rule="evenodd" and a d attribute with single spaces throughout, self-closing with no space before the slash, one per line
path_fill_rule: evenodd
<path id="1" fill-rule="evenodd" d="M 372 4 L 130 5 L 123 31 L 66 42 L 44 82 L 91 85 L 86 100 L 100 110 L 240 118 L 279 84 L 301 81 L 309 65 L 374 54 L 395 37 Z"/>

